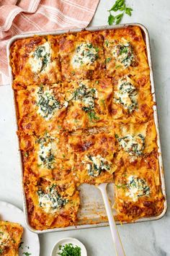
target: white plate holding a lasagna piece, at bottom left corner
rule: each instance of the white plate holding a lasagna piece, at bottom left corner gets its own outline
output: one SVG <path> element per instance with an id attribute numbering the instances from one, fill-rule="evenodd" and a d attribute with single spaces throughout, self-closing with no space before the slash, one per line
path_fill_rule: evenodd
<path id="1" fill-rule="evenodd" d="M 26 255 L 39 256 L 40 255 L 40 242 L 37 234 L 28 230 L 24 223 L 24 213 L 22 210 L 8 202 L 0 201 L 0 220 L 12 221 L 22 225 L 24 233 L 22 235 L 22 244 L 19 248 L 19 256 Z"/>

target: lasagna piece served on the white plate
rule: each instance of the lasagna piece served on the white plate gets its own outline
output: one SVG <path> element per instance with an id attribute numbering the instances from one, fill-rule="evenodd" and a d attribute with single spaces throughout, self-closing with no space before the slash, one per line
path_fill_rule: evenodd
<path id="1" fill-rule="evenodd" d="M 0 255 L 18 256 L 23 228 L 18 223 L 0 221 Z"/>

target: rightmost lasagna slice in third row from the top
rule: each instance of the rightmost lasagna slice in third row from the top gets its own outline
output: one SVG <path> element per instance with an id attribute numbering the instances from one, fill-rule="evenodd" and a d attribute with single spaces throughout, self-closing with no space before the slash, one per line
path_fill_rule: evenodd
<path id="1" fill-rule="evenodd" d="M 140 124 L 114 123 L 113 127 L 118 148 L 117 159 L 120 161 L 133 162 L 158 150 L 153 120 Z"/>

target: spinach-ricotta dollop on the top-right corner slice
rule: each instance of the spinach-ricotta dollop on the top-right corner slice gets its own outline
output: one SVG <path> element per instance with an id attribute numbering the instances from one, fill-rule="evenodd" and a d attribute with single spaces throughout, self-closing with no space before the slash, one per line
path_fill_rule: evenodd
<path id="1" fill-rule="evenodd" d="M 133 48 L 125 39 L 123 40 L 123 43 L 117 44 L 113 48 L 112 54 L 125 68 L 129 67 L 134 61 Z"/>

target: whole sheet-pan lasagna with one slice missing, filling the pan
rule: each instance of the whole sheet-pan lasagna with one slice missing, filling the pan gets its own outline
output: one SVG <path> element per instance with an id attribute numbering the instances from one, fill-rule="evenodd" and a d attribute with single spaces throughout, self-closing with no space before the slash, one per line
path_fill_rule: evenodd
<path id="1" fill-rule="evenodd" d="M 15 40 L 13 89 L 30 226 L 76 225 L 79 185 L 115 184 L 117 220 L 164 210 L 138 26 Z"/>

